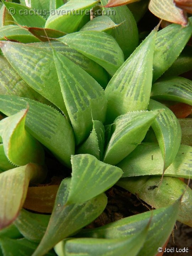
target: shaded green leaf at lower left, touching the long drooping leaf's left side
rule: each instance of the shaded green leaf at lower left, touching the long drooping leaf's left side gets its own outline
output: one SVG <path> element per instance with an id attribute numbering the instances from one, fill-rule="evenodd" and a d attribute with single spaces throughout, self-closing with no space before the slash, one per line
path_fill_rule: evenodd
<path id="1" fill-rule="evenodd" d="M 22 209 L 14 225 L 27 240 L 39 242 L 46 231 L 49 219 L 50 215 L 31 213 Z"/>

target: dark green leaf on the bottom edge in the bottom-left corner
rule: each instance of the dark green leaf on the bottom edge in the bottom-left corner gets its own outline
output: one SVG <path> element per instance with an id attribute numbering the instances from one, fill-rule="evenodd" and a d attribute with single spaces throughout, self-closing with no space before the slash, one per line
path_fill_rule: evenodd
<path id="1" fill-rule="evenodd" d="M 10 238 L 1 238 L 0 245 L 4 256 L 15 256 L 15 252 L 21 256 L 32 255 L 34 250 L 37 248 L 38 244 L 28 241 L 25 238 L 22 239 L 10 239 Z M 54 251 L 50 251 L 46 256 L 55 256 Z"/>

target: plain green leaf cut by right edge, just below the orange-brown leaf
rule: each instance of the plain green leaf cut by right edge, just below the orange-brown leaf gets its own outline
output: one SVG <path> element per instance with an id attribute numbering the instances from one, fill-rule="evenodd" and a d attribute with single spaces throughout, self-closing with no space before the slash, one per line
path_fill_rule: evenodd
<path id="1" fill-rule="evenodd" d="M 181 144 L 192 146 L 192 118 L 178 119 L 181 126 Z"/>

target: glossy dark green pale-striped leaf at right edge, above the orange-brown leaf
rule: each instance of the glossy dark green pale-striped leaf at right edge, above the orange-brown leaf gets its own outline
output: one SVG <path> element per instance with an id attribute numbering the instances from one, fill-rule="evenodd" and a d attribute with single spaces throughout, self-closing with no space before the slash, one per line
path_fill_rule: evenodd
<path id="1" fill-rule="evenodd" d="M 179 101 L 192 105 L 192 81 L 180 76 L 155 82 L 151 97 L 161 100 Z"/>

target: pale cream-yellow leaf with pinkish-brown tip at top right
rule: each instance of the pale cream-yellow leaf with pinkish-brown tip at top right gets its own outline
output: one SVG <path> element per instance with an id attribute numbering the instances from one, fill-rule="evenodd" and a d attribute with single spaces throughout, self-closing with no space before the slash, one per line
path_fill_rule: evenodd
<path id="1" fill-rule="evenodd" d="M 174 0 L 151 0 L 149 10 L 162 20 L 187 25 L 187 15 L 175 5 Z"/>

